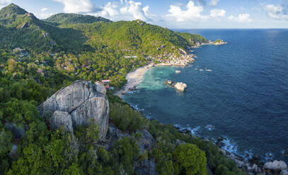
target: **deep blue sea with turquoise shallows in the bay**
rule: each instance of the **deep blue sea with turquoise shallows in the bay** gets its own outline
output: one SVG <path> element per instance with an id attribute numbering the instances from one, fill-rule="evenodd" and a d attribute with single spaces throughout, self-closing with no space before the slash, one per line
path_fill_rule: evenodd
<path id="1" fill-rule="evenodd" d="M 239 155 L 288 149 L 288 30 L 185 30 L 226 45 L 195 49 L 186 68 L 156 67 L 125 101 L 161 123 L 190 127 L 193 133 L 229 138 L 227 150 Z M 200 71 L 199 69 L 212 71 Z M 197 69 L 197 70 L 196 70 Z M 182 73 L 176 74 L 175 70 Z M 186 83 L 185 92 L 164 85 Z"/>

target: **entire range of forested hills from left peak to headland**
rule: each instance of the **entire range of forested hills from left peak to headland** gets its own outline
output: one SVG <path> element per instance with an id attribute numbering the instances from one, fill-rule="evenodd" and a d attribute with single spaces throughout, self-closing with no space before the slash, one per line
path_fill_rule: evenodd
<path id="1" fill-rule="evenodd" d="M 1 9 L 0 30 L 1 48 L 22 47 L 38 52 L 78 53 L 112 47 L 159 54 L 157 48 L 163 45 L 167 46 L 166 52 L 174 52 L 206 41 L 190 34 L 188 41 L 178 32 L 140 20 L 113 23 L 101 17 L 65 13 L 39 20 L 15 4 Z"/>

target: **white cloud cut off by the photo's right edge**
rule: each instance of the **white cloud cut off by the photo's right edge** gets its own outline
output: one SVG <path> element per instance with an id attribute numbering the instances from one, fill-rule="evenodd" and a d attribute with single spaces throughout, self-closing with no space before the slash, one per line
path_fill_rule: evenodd
<path id="1" fill-rule="evenodd" d="M 287 6 L 275 6 L 274 4 L 268 4 L 265 6 L 267 16 L 276 20 L 288 20 Z"/>

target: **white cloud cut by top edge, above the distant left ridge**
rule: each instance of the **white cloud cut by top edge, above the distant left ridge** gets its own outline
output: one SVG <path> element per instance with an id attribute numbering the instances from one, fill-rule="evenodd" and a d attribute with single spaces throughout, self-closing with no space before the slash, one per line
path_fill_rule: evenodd
<path id="1" fill-rule="evenodd" d="M 64 5 L 65 13 L 87 13 L 94 10 L 91 0 L 54 0 Z"/>

